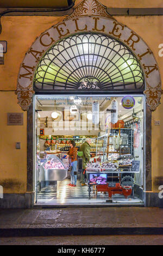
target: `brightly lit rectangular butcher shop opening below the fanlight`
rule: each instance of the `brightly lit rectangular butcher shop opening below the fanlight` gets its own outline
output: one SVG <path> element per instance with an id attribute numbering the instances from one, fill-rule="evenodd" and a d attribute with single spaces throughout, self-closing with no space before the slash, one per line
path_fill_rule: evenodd
<path id="1" fill-rule="evenodd" d="M 36 204 L 143 205 L 141 94 L 36 95 L 35 106 Z"/>

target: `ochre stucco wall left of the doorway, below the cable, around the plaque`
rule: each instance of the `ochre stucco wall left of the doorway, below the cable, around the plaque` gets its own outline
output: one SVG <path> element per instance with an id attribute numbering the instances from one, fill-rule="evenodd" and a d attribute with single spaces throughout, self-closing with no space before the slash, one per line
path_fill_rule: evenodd
<path id="1" fill-rule="evenodd" d="M 17 105 L 15 92 L 0 92 L 0 184 L 4 193 L 25 193 L 27 183 L 27 112 Z M 23 112 L 24 125 L 7 125 L 7 113 Z M 21 142 L 21 149 L 15 143 Z"/>

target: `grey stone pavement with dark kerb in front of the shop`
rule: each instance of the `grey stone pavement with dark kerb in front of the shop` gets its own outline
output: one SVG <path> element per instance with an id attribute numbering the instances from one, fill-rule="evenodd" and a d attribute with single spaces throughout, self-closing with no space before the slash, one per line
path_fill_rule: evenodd
<path id="1" fill-rule="evenodd" d="M 0 209 L 0 236 L 159 235 L 163 208 Z"/>

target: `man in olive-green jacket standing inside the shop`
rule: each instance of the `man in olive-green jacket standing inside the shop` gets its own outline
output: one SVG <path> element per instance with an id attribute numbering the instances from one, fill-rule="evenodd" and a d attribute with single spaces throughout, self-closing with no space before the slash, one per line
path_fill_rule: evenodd
<path id="1" fill-rule="evenodd" d="M 81 174 L 81 181 L 82 181 L 82 186 L 86 186 L 85 184 L 85 174 L 84 170 L 86 168 L 86 164 L 90 161 L 90 144 L 91 144 L 91 138 L 86 138 L 85 142 L 82 144 L 80 147 L 79 151 L 83 152 L 83 170 Z"/>

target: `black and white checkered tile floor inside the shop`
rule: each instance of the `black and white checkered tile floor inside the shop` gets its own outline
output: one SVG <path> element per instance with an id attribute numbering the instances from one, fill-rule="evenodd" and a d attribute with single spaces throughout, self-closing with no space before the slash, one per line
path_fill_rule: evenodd
<path id="1" fill-rule="evenodd" d="M 70 179 L 65 179 L 58 181 L 56 187 L 43 188 L 37 193 L 37 204 L 103 204 L 108 200 L 108 193 L 98 192 L 96 195 L 96 191 L 94 193 L 91 191 L 91 200 L 89 200 L 88 186 L 82 186 L 79 180 L 76 187 L 67 186 L 69 183 Z M 142 203 L 137 197 L 126 199 L 123 195 L 114 195 L 112 199 L 116 203 Z"/>

